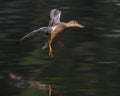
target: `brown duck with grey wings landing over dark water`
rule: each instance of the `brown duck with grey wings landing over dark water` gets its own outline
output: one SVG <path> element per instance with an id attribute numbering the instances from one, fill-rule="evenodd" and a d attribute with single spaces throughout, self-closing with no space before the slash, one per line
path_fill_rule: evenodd
<path id="1" fill-rule="evenodd" d="M 78 27 L 84 28 L 84 25 L 78 23 L 75 20 L 70 20 L 68 22 L 61 22 L 60 21 L 61 11 L 58 9 L 52 9 L 50 11 L 50 20 L 47 27 L 41 27 L 39 29 L 33 30 L 32 32 L 23 36 L 19 42 L 23 41 L 24 39 L 33 37 L 38 35 L 39 33 L 43 33 L 46 36 L 47 40 L 42 47 L 42 49 L 49 48 L 49 56 L 53 57 L 53 44 L 57 43 L 59 47 L 64 47 L 64 43 L 61 40 L 64 31 L 71 27 Z"/>

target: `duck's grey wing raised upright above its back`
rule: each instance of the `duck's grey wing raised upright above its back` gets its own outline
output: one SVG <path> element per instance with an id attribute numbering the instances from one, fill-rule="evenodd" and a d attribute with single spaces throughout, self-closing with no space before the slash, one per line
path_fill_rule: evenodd
<path id="1" fill-rule="evenodd" d="M 61 11 L 58 9 L 53 9 L 50 11 L 50 21 L 49 26 L 60 23 Z"/>

